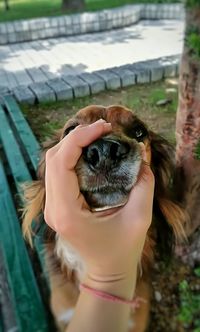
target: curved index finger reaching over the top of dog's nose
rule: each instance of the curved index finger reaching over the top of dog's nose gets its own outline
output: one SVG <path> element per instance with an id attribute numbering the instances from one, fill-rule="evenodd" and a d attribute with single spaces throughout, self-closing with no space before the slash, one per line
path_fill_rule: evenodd
<path id="1" fill-rule="evenodd" d="M 89 145 L 92 141 L 111 131 L 111 124 L 104 120 L 99 120 L 85 127 L 78 127 L 69 133 L 54 150 L 56 162 L 55 173 L 59 173 L 57 182 L 59 182 L 60 200 L 68 202 L 68 208 L 77 204 L 80 198 L 80 188 L 78 178 L 75 173 L 75 166 L 81 156 L 82 148 Z M 83 199 L 82 199 L 83 201 Z"/>

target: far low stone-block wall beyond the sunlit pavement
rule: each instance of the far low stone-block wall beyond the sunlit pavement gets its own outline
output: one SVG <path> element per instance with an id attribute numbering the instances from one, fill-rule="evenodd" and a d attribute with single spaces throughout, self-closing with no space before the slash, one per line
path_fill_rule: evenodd
<path id="1" fill-rule="evenodd" d="M 129 26 L 141 19 L 181 19 L 182 4 L 126 5 L 98 12 L 0 23 L 0 45 L 99 32 Z"/>

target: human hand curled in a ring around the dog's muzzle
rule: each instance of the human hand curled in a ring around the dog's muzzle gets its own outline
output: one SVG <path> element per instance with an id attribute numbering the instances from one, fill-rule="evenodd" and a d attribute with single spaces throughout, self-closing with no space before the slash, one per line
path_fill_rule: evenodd
<path id="1" fill-rule="evenodd" d="M 82 148 L 110 131 L 104 121 L 79 126 L 46 155 L 45 220 L 80 253 L 88 274 L 98 280 L 123 278 L 134 270 L 152 218 L 154 177 L 145 163 L 122 208 L 91 212 L 80 193 L 74 167 Z M 146 160 L 144 147 L 142 153 Z"/>

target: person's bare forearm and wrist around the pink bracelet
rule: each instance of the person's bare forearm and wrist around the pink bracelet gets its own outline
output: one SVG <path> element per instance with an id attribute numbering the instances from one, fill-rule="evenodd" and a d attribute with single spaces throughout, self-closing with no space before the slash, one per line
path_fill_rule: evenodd
<path id="1" fill-rule="evenodd" d="M 135 291 L 136 272 L 130 280 L 110 283 L 98 283 L 87 280 L 87 285 L 94 289 L 132 300 Z M 127 332 L 130 306 L 111 302 L 82 290 L 76 305 L 72 321 L 67 332 Z"/>

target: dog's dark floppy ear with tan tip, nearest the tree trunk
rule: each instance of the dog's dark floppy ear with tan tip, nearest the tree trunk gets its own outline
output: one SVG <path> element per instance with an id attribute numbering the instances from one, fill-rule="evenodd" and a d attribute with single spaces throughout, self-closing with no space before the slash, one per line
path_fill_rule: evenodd
<path id="1" fill-rule="evenodd" d="M 155 176 L 153 223 L 156 243 L 162 257 L 169 257 L 175 241 L 185 238 L 186 213 L 173 197 L 175 157 L 173 146 L 150 131 L 151 167 Z"/>

